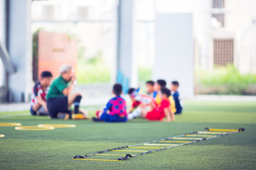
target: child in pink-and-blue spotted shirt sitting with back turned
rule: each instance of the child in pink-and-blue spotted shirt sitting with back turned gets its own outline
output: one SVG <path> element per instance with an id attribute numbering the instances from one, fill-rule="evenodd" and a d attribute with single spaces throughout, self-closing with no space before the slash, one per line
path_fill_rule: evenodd
<path id="1" fill-rule="evenodd" d="M 122 94 L 122 85 L 114 84 L 112 93 L 114 94 L 114 98 L 110 99 L 103 111 L 96 112 L 97 118 L 92 118 L 92 121 L 109 123 L 127 121 L 126 102 L 120 96 Z"/>

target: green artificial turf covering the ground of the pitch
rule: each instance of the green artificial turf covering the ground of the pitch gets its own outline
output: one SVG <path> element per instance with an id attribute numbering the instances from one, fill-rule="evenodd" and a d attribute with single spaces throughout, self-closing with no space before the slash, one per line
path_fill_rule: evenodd
<path id="1" fill-rule="evenodd" d="M 69 123 L 77 128 L 21 131 L 0 127 L 0 169 L 256 169 L 256 102 L 185 101 L 173 123 L 92 123 L 90 120 L 50 120 L 28 112 L 0 113 L 0 122 L 22 125 Z M 87 108 L 90 115 L 100 107 Z M 123 162 L 72 160 L 75 155 L 135 145 L 204 128 L 245 128 L 245 132 L 196 142 L 131 158 Z M 114 154 L 127 154 L 114 152 Z M 134 154 L 134 153 L 132 153 Z M 139 152 L 138 152 L 139 154 Z M 117 159 L 94 156 L 91 159 Z"/>

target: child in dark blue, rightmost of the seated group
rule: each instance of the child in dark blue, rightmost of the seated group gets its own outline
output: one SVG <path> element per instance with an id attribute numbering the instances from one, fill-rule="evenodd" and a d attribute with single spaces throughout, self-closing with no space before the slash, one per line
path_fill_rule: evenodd
<path id="1" fill-rule="evenodd" d="M 178 94 L 178 85 L 179 85 L 178 81 L 171 82 L 171 94 L 174 97 L 175 106 L 176 106 L 176 112 L 174 112 L 174 114 L 182 113 L 181 100 L 180 100 L 179 94 Z"/>

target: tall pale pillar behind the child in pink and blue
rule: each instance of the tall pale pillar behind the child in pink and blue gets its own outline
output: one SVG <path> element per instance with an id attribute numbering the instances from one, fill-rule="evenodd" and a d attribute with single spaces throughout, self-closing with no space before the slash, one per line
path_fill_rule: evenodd
<path id="1" fill-rule="evenodd" d="M 137 62 L 133 55 L 134 1 L 119 0 L 117 35 L 117 82 L 127 92 L 138 84 Z"/>

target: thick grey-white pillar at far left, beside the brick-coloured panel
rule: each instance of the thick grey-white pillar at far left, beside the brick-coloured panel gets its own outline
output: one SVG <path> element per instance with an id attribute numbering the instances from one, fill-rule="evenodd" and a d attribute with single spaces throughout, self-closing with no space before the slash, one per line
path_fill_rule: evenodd
<path id="1" fill-rule="evenodd" d="M 28 101 L 32 91 L 31 0 L 9 1 L 9 56 L 16 69 L 9 75 L 9 101 Z"/>

